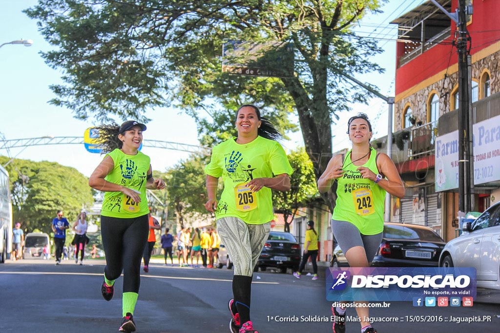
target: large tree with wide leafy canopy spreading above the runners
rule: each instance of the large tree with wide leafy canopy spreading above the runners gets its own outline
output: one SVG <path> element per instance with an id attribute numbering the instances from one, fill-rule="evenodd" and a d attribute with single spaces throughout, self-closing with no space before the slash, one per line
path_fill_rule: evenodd
<path id="1" fill-rule="evenodd" d="M 331 157 L 332 122 L 349 103 L 370 97 L 342 73 L 382 70 L 367 60 L 380 52 L 377 41 L 357 37 L 350 26 L 383 1 L 39 0 L 25 12 L 57 47 L 42 53 L 63 72 L 64 84 L 51 86 L 51 103 L 75 117 L 147 120 L 144 110 L 173 105 L 198 120 L 209 144 L 233 133 L 242 103 L 261 107 L 284 132 L 293 128 L 287 115 L 295 111 L 317 179 Z M 291 44 L 293 74 L 223 72 L 222 46 L 231 40 Z M 333 193 L 323 199 L 332 209 Z"/>

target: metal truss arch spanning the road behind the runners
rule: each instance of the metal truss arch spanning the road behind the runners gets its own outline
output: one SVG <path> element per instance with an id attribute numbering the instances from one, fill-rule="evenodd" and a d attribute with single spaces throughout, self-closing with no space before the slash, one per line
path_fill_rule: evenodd
<path id="1" fill-rule="evenodd" d="M 56 144 L 82 145 L 83 138 L 81 136 L 55 136 L 55 137 L 42 136 L 39 138 L 4 140 L 2 142 L 0 150 L 19 148 L 19 147 L 30 147 L 30 146 L 56 145 Z M 189 145 L 185 143 L 158 141 L 158 140 L 144 140 L 142 141 L 142 144 L 144 145 L 144 147 L 179 150 L 179 151 L 186 151 L 189 153 L 210 154 L 210 148 L 196 146 L 196 145 Z"/>

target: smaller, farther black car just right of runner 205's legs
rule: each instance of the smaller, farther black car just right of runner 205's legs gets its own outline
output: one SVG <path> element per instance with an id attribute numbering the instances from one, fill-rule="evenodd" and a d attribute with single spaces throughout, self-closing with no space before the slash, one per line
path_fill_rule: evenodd
<path id="1" fill-rule="evenodd" d="M 286 273 L 288 268 L 298 271 L 299 264 L 300 244 L 295 237 L 290 233 L 271 231 L 254 271 L 256 272 L 257 268 L 265 271 L 267 267 L 276 267 L 281 273 Z"/>

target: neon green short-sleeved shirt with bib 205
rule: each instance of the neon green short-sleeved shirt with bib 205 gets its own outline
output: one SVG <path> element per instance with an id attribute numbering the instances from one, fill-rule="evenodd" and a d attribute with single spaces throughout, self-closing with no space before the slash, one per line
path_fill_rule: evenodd
<path id="1" fill-rule="evenodd" d="M 246 144 L 238 144 L 235 137 L 212 149 L 210 163 L 205 167 L 209 176 L 222 177 L 224 190 L 215 210 L 215 218 L 238 217 L 248 224 L 271 221 L 271 189 L 263 187 L 252 193 L 244 187 L 254 178 L 267 178 L 293 170 L 281 145 L 261 136 Z"/>

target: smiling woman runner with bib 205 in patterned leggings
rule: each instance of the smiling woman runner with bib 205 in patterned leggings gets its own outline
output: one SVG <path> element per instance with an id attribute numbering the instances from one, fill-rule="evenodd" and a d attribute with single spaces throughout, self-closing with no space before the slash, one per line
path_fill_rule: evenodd
<path id="1" fill-rule="evenodd" d="M 288 191 L 293 169 L 275 141 L 281 137 L 254 105 L 236 112 L 237 137 L 213 147 L 205 167 L 208 201 L 217 230 L 234 264 L 233 299 L 229 300 L 233 332 L 256 333 L 250 321 L 251 280 L 273 219 L 271 190 Z M 224 189 L 217 200 L 218 179 Z"/>

